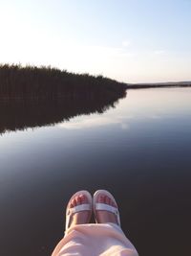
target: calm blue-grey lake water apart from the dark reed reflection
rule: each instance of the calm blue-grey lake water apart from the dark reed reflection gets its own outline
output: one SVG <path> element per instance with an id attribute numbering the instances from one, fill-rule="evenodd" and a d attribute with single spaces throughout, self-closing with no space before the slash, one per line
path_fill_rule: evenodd
<path id="1" fill-rule="evenodd" d="M 191 88 L 129 90 L 102 114 L 2 132 L 0 255 L 50 255 L 81 189 L 115 195 L 139 255 L 190 255 Z"/>

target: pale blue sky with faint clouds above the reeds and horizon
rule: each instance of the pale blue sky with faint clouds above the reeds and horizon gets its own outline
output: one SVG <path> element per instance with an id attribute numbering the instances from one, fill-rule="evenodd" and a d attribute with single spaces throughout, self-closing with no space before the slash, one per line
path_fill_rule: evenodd
<path id="1" fill-rule="evenodd" d="M 191 81 L 191 0 L 0 0 L 0 63 Z"/>

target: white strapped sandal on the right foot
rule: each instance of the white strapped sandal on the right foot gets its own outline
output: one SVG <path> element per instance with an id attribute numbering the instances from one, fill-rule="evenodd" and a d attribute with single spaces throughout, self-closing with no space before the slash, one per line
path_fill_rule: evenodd
<path id="1" fill-rule="evenodd" d="M 107 196 L 108 198 L 111 198 L 117 205 L 117 201 L 112 196 L 111 193 L 109 193 L 106 190 L 97 190 L 94 195 L 94 198 L 93 198 L 94 214 L 95 214 L 96 222 L 97 222 L 96 211 L 107 211 L 107 212 L 113 213 L 117 217 L 117 224 L 120 226 L 120 217 L 119 217 L 118 207 L 114 207 L 112 205 L 108 205 L 108 204 L 102 203 L 102 202 L 96 202 L 98 196 L 100 196 L 100 195 Z"/>

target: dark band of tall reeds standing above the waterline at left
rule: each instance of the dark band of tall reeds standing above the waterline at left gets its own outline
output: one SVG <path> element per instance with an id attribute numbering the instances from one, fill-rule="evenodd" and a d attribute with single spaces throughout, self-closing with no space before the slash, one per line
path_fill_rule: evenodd
<path id="1" fill-rule="evenodd" d="M 122 97 L 127 85 L 122 82 L 74 74 L 53 67 L 0 64 L 0 100 L 37 100 L 58 98 L 97 99 Z"/>

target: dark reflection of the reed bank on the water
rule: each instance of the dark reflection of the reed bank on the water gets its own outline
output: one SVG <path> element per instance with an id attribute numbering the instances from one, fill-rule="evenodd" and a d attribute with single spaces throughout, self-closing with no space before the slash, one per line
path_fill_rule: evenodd
<path id="1" fill-rule="evenodd" d="M 125 96 L 126 93 L 121 97 L 113 96 L 108 99 L 71 97 L 41 103 L 0 103 L 0 133 L 54 125 L 82 114 L 103 113 L 108 108 L 115 107 L 118 99 Z"/>

